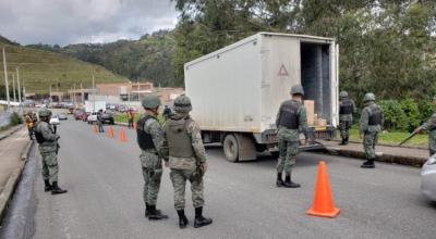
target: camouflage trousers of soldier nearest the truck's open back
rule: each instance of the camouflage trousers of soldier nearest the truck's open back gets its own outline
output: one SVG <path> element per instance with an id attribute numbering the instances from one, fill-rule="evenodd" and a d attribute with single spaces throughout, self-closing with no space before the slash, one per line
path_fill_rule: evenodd
<path id="1" fill-rule="evenodd" d="M 299 141 L 279 140 L 279 159 L 277 163 L 277 173 L 282 173 L 287 176 L 291 175 L 292 167 L 295 164 L 295 156 L 299 153 Z"/>

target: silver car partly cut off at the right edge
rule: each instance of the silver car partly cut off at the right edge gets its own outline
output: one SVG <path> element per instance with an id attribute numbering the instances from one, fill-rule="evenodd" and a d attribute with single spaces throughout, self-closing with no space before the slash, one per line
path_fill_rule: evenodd
<path id="1" fill-rule="evenodd" d="M 421 193 L 436 202 L 436 154 L 433 154 L 421 169 Z"/>

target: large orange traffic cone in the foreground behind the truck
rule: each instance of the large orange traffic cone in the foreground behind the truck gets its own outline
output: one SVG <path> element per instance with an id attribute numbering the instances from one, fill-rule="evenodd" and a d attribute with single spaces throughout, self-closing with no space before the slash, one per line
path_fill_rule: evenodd
<path id="1" fill-rule="evenodd" d="M 306 213 L 312 216 L 336 217 L 340 209 L 335 209 L 331 198 L 330 184 L 328 183 L 326 163 L 319 162 L 318 176 L 316 179 L 315 197 L 312 209 Z"/>

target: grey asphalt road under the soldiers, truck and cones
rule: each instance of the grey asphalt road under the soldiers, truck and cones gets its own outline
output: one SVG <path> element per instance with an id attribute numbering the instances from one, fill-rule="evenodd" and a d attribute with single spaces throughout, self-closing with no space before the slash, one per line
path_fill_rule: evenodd
<path id="1" fill-rule="evenodd" d="M 36 210 L 28 216 L 34 217 L 34 238 L 435 238 L 436 206 L 420 196 L 419 168 L 379 163 L 365 171 L 358 160 L 303 153 L 294 168 L 302 188 L 284 189 L 275 186 L 276 160 L 269 155 L 230 163 L 217 147 L 207 150 L 205 177 L 204 211 L 214 224 L 192 227 L 187 193 L 190 227 L 179 229 L 167 168 L 158 207 L 170 218 L 149 222 L 144 218 L 136 137 L 126 129 L 129 142 L 122 143 L 114 129 L 117 139 L 93 134 L 83 122 L 58 127 L 59 184 L 69 192 L 46 193 L 40 174 L 33 176 Z M 39 171 L 38 154 L 32 160 Z M 334 219 L 305 214 L 320 160 L 327 163 L 335 204 L 341 209 Z"/>

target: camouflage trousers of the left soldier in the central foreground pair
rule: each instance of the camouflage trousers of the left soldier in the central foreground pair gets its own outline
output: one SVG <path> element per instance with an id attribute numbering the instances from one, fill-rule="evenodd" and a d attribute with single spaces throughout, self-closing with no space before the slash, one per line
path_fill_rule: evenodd
<path id="1" fill-rule="evenodd" d="M 144 203 L 156 205 L 162 177 L 162 161 L 153 153 L 143 153 L 140 159 L 144 176 Z"/>

